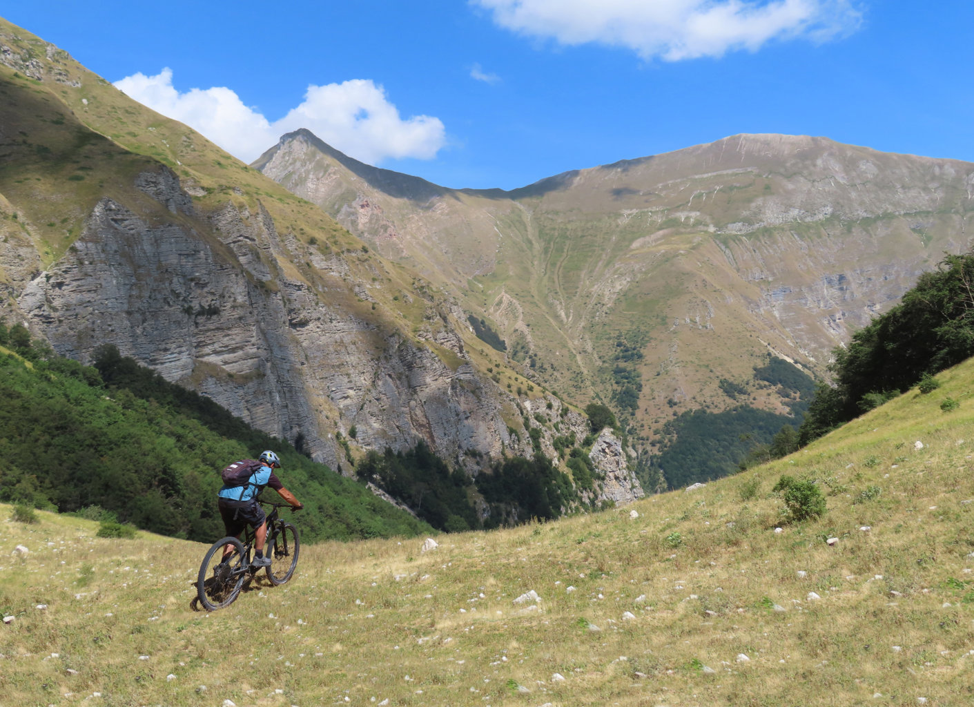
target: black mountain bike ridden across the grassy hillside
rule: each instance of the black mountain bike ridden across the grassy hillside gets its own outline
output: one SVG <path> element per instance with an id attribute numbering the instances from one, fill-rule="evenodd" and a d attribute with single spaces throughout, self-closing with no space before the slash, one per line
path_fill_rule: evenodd
<path id="1" fill-rule="evenodd" d="M 265 506 L 273 506 L 273 510 L 267 515 L 267 540 L 264 543 L 264 554 L 271 558 L 271 566 L 266 568 L 267 578 L 277 586 L 294 574 L 301 542 L 298 540 L 297 528 L 279 517 L 278 509 L 290 508 L 288 503 L 274 503 L 260 499 L 257 502 Z M 244 582 L 260 572 L 260 568 L 250 566 L 250 551 L 253 549 L 254 538 L 253 528 L 247 526 L 243 541 L 228 536 L 214 542 L 206 551 L 203 564 L 200 566 L 200 576 L 196 580 L 196 590 L 200 604 L 207 612 L 233 604 L 241 589 L 244 588 Z"/>

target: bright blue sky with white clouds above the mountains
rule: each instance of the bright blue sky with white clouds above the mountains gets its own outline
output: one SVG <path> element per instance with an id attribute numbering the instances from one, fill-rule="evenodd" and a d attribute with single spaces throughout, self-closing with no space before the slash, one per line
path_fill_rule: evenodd
<path id="1" fill-rule="evenodd" d="M 300 127 L 449 187 L 738 132 L 974 162 L 971 0 L 32 0 L 0 16 L 245 162 Z"/>

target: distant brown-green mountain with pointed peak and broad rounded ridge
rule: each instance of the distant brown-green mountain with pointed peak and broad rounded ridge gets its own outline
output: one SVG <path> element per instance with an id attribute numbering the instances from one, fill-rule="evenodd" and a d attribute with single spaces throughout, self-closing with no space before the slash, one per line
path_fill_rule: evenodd
<path id="1" fill-rule="evenodd" d="M 451 287 L 545 385 L 618 400 L 635 374 L 622 412 L 646 439 L 739 402 L 721 379 L 783 411 L 752 378 L 768 352 L 825 374 L 852 330 L 971 246 L 974 165 L 820 137 L 736 135 L 507 193 L 361 166 L 307 131 L 254 167 Z"/>

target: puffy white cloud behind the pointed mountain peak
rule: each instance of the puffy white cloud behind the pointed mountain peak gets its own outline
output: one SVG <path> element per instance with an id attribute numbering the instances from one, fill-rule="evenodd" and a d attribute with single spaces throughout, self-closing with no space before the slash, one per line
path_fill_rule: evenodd
<path id="1" fill-rule="evenodd" d="M 169 68 L 157 76 L 127 76 L 115 86 L 198 130 L 246 163 L 277 143 L 281 134 L 299 128 L 311 130 L 335 149 L 371 165 L 388 158 L 429 160 L 446 139 L 438 118 L 423 115 L 403 120 L 385 90 L 364 79 L 309 86 L 304 101 L 274 122 L 244 105 L 230 89 L 178 92 Z"/>

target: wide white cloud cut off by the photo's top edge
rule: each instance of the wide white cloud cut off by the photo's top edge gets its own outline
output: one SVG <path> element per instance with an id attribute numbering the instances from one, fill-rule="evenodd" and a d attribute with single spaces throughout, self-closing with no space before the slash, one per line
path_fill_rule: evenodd
<path id="1" fill-rule="evenodd" d="M 506 29 L 565 45 L 622 47 L 668 61 L 756 51 L 772 40 L 848 34 L 855 0 L 470 0 Z"/>

